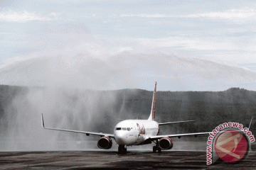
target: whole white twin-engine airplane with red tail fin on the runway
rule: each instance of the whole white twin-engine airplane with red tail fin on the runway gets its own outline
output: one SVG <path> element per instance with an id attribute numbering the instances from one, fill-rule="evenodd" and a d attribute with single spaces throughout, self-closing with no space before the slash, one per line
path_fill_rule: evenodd
<path id="1" fill-rule="evenodd" d="M 42 114 L 42 126 L 47 130 L 60 130 L 65 132 L 77 132 L 83 133 L 87 136 L 97 135 L 100 136 L 100 139 L 97 142 L 97 147 L 100 149 L 110 149 L 112 147 L 112 139 L 114 139 L 118 147 L 119 154 L 125 154 L 127 152 L 127 147 L 132 145 L 147 145 L 154 142 L 156 146 L 153 147 L 153 152 L 158 151 L 161 153 L 161 150 L 171 149 L 174 146 L 171 137 L 183 137 L 194 135 L 206 135 L 209 132 L 196 132 L 196 133 L 183 133 L 183 134 L 171 134 L 171 135 L 159 135 L 160 125 L 169 125 L 174 123 L 188 123 L 193 122 L 194 120 L 178 121 L 178 122 L 169 122 L 169 123 L 157 123 L 155 121 L 155 112 L 156 112 L 156 84 L 154 87 L 153 100 L 151 105 L 151 113 L 147 120 L 121 120 L 117 123 L 114 128 L 114 134 L 107 134 L 102 132 L 85 132 L 78 130 L 63 130 L 56 128 L 46 128 L 43 122 Z"/>

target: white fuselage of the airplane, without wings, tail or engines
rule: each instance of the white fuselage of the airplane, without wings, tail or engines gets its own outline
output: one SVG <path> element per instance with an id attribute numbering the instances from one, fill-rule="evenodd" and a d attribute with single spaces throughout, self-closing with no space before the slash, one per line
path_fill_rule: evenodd
<path id="1" fill-rule="evenodd" d="M 114 128 L 114 140 L 118 145 L 143 145 L 151 136 L 159 134 L 159 124 L 154 120 L 124 120 Z"/>

